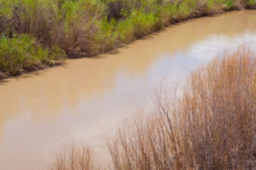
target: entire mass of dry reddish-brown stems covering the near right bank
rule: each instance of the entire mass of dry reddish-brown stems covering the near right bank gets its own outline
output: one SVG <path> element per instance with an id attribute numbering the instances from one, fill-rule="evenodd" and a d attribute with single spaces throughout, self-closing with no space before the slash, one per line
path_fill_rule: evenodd
<path id="1" fill-rule="evenodd" d="M 256 51 L 225 51 L 179 92 L 162 82 L 154 94 L 155 110 L 127 119 L 109 140 L 110 169 L 256 168 Z"/>

